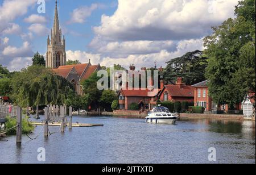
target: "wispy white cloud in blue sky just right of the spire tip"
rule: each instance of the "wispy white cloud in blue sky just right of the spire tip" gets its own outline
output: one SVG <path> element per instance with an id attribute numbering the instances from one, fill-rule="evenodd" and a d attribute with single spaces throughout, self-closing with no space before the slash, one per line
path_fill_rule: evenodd
<path id="1" fill-rule="evenodd" d="M 90 7 L 82 6 L 78 9 L 73 10 L 71 14 L 71 19 L 69 20 L 68 24 L 71 23 L 84 23 L 86 18 L 88 18 L 94 10 L 99 7 L 98 4 L 94 3 Z"/>

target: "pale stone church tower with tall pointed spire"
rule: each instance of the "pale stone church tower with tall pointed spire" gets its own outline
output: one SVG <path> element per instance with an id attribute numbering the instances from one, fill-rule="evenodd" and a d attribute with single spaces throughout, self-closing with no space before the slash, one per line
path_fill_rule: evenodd
<path id="1" fill-rule="evenodd" d="M 55 7 L 55 16 L 53 28 L 51 30 L 51 39 L 47 39 L 47 53 L 46 53 L 46 67 L 59 68 L 59 66 L 66 65 L 66 51 L 65 51 L 65 36 L 61 40 L 61 28 L 59 26 L 59 15 L 57 10 L 57 0 Z"/>

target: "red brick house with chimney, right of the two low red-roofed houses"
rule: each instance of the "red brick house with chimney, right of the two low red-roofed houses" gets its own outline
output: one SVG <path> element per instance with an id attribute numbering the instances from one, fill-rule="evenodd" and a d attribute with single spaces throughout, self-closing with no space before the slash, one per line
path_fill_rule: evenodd
<path id="1" fill-rule="evenodd" d="M 182 78 L 178 77 L 175 85 L 165 85 L 158 95 L 160 101 L 172 102 L 193 102 L 194 87 L 187 86 L 182 82 Z"/>

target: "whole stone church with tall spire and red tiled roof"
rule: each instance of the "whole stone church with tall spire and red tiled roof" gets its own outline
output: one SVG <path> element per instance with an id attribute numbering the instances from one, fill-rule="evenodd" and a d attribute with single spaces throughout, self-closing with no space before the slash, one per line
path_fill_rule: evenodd
<path id="1" fill-rule="evenodd" d="M 72 60 L 72 58 L 69 58 Z M 59 14 L 57 9 L 57 0 L 55 6 L 55 16 L 53 28 L 51 30 L 51 39 L 47 39 L 46 68 L 51 68 L 54 73 L 66 78 L 74 85 L 74 90 L 82 95 L 82 86 L 80 82 L 89 78 L 94 72 L 101 69 L 100 64 L 92 65 L 90 60 L 86 64 L 66 65 L 67 56 L 65 51 L 65 36 L 61 34 L 59 26 Z"/>

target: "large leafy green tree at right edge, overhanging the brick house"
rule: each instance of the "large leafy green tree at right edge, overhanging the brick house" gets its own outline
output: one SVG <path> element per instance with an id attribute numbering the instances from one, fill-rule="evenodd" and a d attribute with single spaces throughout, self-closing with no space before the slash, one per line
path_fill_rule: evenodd
<path id="1" fill-rule="evenodd" d="M 239 2 L 235 14 L 204 39 L 210 96 L 231 109 L 255 93 L 255 0 Z"/>

